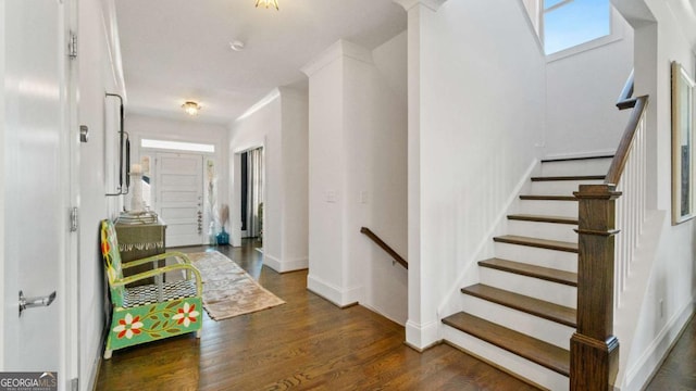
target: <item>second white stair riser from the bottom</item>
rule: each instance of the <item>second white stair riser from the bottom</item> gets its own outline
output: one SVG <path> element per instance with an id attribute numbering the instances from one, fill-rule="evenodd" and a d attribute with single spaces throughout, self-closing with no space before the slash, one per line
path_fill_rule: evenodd
<path id="1" fill-rule="evenodd" d="M 570 338 L 575 329 L 530 315 L 483 299 L 464 294 L 464 312 L 513 329 L 540 341 L 570 350 Z"/>

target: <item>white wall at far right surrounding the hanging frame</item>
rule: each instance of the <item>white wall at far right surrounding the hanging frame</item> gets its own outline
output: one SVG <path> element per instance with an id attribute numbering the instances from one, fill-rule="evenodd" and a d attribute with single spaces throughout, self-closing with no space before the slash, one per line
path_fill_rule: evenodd
<path id="1" fill-rule="evenodd" d="M 620 2 L 619 2 L 620 3 Z M 650 94 L 648 106 L 648 201 L 666 211 L 657 256 L 636 314 L 632 340 L 622 343 L 622 390 L 638 390 L 649 379 L 694 312 L 696 268 L 694 267 L 694 220 L 671 225 L 671 86 L 670 63 L 681 62 L 693 76 L 696 25 L 693 8 L 680 1 L 645 0 L 620 10 L 631 14 L 635 27 L 636 94 Z M 647 7 L 646 7 L 647 5 Z M 691 15 L 691 16 L 689 16 Z M 631 287 L 630 287 L 631 288 Z"/>

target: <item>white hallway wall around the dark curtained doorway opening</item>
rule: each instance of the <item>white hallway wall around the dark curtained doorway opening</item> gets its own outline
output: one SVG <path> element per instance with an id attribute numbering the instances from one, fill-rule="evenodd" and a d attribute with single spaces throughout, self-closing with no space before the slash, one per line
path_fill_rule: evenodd
<path id="1" fill-rule="evenodd" d="M 229 130 L 233 244 L 240 244 L 239 153 L 263 147 L 263 256 L 264 264 L 276 272 L 308 266 L 307 117 L 307 97 L 281 88 Z"/>

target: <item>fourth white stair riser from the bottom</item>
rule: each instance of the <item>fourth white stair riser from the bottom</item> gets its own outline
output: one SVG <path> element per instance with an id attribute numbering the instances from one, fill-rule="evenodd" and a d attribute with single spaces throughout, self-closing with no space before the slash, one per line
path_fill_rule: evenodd
<path id="1" fill-rule="evenodd" d="M 527 245 L 495 243 L 495 255 L 504 260 L 577 273 L 576 253 L 537 249 Z"/>

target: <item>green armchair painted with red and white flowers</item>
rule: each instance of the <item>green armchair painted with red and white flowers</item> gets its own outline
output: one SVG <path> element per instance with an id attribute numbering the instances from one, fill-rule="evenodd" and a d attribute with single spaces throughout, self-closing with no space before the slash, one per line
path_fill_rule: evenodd
<path id="1" fill-rule="evenodd" d="M 116 231 L 109 219 L 101 222 L 101 254 L 113 304 L 104 360 L 111 358 L 112 351 L 116 349 L 166 337 L 196 332 L 196 337 L 200 338 L 202 279 L 186 254 L 170 252 L 122 263 Z M 123 276 L 124 269 L 167 257 L 175 258 L 178 263 L 129 277 Z M 186 272 L 186 277 L 164 282 L 164 273 L 173 270 Z M 132 282 L 149 277 L 156 277 L 156 283 L 128 287 Z"/>

